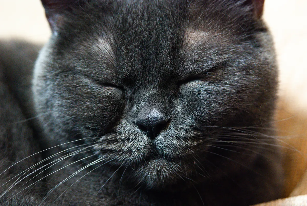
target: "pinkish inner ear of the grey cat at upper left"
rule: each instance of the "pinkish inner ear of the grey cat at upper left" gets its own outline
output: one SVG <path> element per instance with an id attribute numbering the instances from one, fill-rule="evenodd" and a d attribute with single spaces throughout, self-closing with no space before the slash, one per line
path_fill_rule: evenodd
<path id="1" fill-rule="evenodd" d="M 52 32 L 59 30 L 64 23 L 65 15 L 80 6 L 76 0 L 41 0 Z"/>

